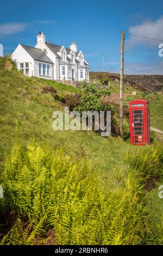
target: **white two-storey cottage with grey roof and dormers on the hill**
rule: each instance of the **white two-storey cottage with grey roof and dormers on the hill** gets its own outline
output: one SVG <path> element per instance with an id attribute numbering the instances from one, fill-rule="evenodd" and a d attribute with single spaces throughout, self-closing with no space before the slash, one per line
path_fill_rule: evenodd
<path id="1" fill-rule="evenodd" d="M 51 80 L 89 82 L 89 64 L 82 51 L 72 42 L 70 48 L 45 41 L 43 32 L 37 35 L 35 47 L 19 44 L 12 53 L 18 69 L 24 75 Z"/>

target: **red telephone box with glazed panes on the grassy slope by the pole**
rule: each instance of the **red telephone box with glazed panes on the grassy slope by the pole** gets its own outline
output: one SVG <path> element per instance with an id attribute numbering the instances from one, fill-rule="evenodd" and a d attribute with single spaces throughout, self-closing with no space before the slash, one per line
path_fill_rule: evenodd
<path id="1" fill-rule="evenodd" d="M 150 143 L 149 104 L 147 100 L 129 103 L 130 142 L 135 145 Z"/>

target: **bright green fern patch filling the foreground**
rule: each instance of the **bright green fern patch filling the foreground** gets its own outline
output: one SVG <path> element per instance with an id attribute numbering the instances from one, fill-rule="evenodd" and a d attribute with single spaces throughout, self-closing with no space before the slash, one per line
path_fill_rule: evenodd
<path id="1" fill-rule="evenodd" d="M 3 187 L 5 203 L 18 217 L 1 243 L 32 245 L 39 237 L 42 244 L 49 230 L 59 245 L 140 245 L 150 243 L 150 237 L 152 244 L 159 243 L 160 236 L 156 241 L 152 236 L 153 223 L 148 224 L 143 194 L 144 179 L 147 182 L 153 167 L 158 174 L 158 168 L 142 159 L 143 174 L 135 154 L 130 164 L 139 172 L 129 172 L 124 179 L 115 171 L 124 186 L 111 190 L 97 180 L 90 162 L 72 161 L 62 150 L 49 156 L 34 146 L 22 154 L 15 145 L 5 162 Z M 152 159 L 160 166 L 158 151 L 152 151 Z"/>

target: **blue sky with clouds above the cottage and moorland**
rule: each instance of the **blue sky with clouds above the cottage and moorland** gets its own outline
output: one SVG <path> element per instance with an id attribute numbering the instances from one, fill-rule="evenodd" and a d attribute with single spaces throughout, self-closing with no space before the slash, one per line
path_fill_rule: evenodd
<path id="1" fill-rule="evenodd" d="M 14 51 L 19 43 L 35 46 L 36 35 L 43 31 L 54 44 L 69 47 L 76 41 L 91 71 L 102 71 L 104 53 L 105 71 L 119 72 L 122 29 L 163 43 L 163 1 L 1 1 L 4 53 Z M 160 43 L 126 35 L 125 73 L 163 74 Z"/>

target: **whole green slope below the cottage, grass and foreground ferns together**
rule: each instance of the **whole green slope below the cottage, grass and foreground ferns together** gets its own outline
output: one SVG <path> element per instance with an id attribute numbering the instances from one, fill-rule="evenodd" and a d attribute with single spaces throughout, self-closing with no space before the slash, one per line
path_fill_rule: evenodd
<path id="1" fill-rule="evenodd" d="M 57 90 L 58 97 L 47 92 L 47 86 Z M 1 182 L 8 195 L 4 205 L 0 200 L 4 207 L 0 212 L 1 243 L 161 243 L 163 211 L 156 194 L 162 178 L 162 145 L 154 139 L 153 145 L 139 151 L 120 137 L 102 138 L 93 131 L 53 131 L 52 113 L 63 111 L 61 99 L 80 93 L 79 88 L 0 68 Z M 139 161 L 134 159 L 140 155 Z M 145 159 L 146 155 L 151 159 Z M 147 173 L 148 178 L 143 176 Z M 57 205 L 48 205 L 52 196 Z"/>

